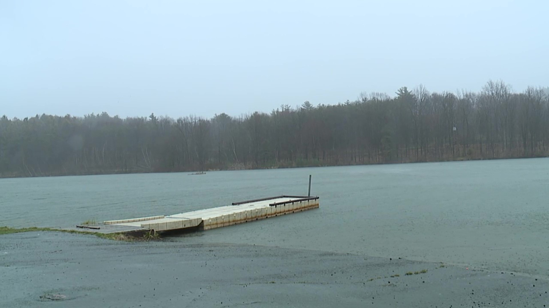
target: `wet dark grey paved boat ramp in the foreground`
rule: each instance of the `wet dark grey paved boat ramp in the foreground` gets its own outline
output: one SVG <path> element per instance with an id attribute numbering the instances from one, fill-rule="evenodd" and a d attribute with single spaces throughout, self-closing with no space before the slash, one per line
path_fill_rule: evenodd
<path id="1" fill-rule="evenodd" d="M 398 255 L 0 236 L 1 307 L 545 307 L 547 292 L 544 276 Z"/>

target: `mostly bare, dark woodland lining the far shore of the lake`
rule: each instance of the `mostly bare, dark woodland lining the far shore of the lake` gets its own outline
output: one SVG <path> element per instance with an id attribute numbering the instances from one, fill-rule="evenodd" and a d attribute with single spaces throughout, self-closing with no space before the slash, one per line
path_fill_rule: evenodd
<path id="1" fill-rule="evenodd" d="M 547 156 L 548 89 L 400 88 L 214 118 L 0 118 L 0 176 L 283 168 Z M 182 110 L 184 112 L 184 110 Z"/>

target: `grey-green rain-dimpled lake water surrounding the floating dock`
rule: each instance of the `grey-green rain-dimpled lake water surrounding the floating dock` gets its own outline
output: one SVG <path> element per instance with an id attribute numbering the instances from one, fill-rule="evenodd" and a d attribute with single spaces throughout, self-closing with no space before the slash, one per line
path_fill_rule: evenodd
<path id="1" fill-rule="evenodd" d="M 549 274 L 549 158 L 0 179 L 0 226 L 71 226 L 306 195 L 309 174 L 319 209 L 174 239 Z"/>

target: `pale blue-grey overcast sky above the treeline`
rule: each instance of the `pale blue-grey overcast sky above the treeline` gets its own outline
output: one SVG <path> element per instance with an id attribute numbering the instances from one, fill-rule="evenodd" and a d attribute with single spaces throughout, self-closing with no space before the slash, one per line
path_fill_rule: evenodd
<path id="1" fill-rule="evenodd" d="M 0 1 L 0 115 L 180 117 L 549 84 L 549 1 Z"/>

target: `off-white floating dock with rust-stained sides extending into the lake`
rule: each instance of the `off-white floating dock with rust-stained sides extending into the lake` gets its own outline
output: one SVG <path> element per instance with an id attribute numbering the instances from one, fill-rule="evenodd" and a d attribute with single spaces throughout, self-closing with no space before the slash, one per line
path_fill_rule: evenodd
<path id="1" fill-rule="evenodd" d="M 141 227 L 154 231 L 183 230 L 199 228 L 209 230 L 218 227 L 247 223 L 278 215 L 318 208 L 318 197 L 278 196 L 235 202 L 230 206 L 194 210 L 169 216 L 104 221 L 105 225 Z"/>

